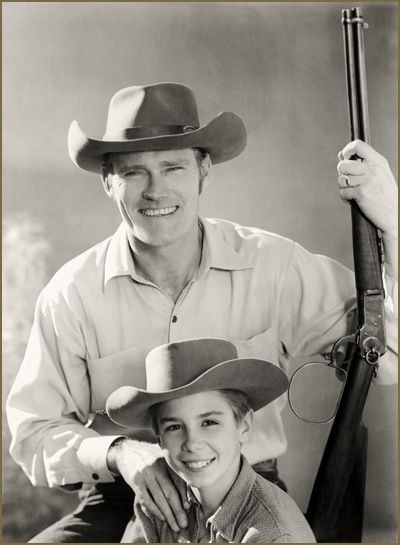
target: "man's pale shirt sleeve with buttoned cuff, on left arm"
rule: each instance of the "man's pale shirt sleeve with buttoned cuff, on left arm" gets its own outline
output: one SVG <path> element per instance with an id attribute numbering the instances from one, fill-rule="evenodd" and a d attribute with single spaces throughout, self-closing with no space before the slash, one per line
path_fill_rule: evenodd
<path id="1" fill-rule="evenodd" d="M 33 485 L 114 481 L 106 455 L 116 436 L 100 436 L 85 425 L 91 399 L 85 356 L 70 301 L 44 290 L 7 400 L 10 453 Z"/>

